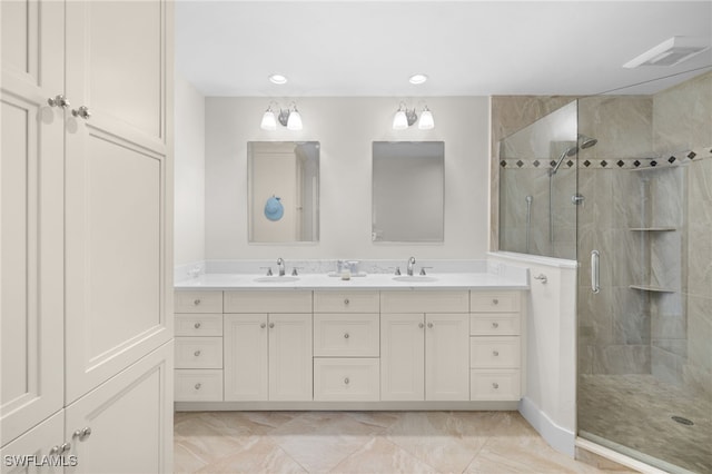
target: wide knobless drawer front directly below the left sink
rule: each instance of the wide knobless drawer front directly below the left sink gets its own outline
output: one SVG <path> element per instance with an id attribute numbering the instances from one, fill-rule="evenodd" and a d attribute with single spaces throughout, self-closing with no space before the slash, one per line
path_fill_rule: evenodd
<path id="1" fill-rule="evenodd" d="M 225 313 L 312 313 L 312 292 L 225 292 Z"/>

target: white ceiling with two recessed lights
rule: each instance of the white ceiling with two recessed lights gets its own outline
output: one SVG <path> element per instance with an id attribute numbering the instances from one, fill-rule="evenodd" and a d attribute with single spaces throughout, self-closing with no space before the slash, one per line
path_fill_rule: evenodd
<path id="1" fill-rule="evenodd" d="M 709 0 L 181 0 L 175 8 L 177 70 L 206 96 L 653 93 L 712 70 L 712 50 L 673 67 L 622 68 L 673 36 L 712 42 Z M 289 82 L 270 83 L 274 72 Z M 413 86 L 414 72 L 429 80 Z M 640 86 L 621 89 L 632 85 Z"/>

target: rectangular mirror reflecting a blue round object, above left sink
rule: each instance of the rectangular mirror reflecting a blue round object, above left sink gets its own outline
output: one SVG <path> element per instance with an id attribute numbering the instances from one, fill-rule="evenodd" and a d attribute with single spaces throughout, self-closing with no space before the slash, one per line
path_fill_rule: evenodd
<path id="1" fill-rule="evenodd" d="M 319 240 L 319 142 L 247 144 L 250 243 Z"/>

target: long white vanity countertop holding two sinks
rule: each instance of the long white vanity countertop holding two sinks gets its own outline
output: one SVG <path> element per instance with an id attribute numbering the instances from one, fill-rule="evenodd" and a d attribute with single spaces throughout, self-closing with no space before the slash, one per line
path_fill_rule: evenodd
<path id="1" fill-rule="evenodd" d="M 399 278 L 400 280 L 397 280 Z M 266 279 L 269 279 L 266 282 Z M 176 282 L 178 290 L 240 290 L 240 289 L 528 289 L 528 277 L 513 277 L 492 273 L 443 273 L 428 276 L 405 275 L 396 277 L 393 274 L 368 274 L 354 276 L 344 280 L 325 274 L 304 274 L 298 277 L 273 276 L 255 274 L 202 274 L 197 277 Z"/>

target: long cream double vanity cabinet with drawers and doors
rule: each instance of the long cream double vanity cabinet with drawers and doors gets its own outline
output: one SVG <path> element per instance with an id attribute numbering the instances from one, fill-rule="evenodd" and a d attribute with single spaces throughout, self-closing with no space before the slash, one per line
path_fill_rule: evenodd
<path id="1" fill-rule="evenodd" d="M 522 298 L 521 289 L 178 289 L 177 408 L 515 408 Z"/>

